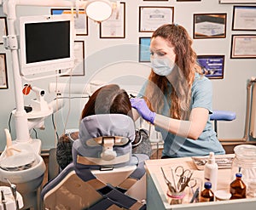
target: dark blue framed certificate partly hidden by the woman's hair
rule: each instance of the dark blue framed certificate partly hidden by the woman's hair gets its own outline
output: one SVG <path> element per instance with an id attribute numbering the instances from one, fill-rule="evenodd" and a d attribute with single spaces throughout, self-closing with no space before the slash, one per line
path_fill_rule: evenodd
<path id="1" fill-rule="evenodd" d="M 224 54 L 197 55 L 197 63 L 201 65 L 205 76 L 209 79 L 224 78 Z"/>

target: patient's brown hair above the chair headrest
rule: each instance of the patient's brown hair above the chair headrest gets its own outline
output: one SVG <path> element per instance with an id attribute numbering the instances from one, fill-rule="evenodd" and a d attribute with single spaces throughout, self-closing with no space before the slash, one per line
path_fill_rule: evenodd
<path id="1" fill-rule="evenodd" d="M 109 84 L 94 92 L 84 105 L 81 119 L 97 114 L 124 114 L 132 117 L 129 95 L 116 84 Z"/>

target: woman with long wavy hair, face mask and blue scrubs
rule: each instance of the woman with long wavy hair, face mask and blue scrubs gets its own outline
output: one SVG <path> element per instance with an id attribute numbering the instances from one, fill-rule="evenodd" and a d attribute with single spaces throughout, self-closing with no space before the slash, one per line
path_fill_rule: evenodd
<path id="1" fill-rule="evenodd" d="M 212 83 L 196 63 L 183 26 L 160 26 L 151 37 L 152 71 L 137 98 L 134 119 L 154 124 L 164 139 L 162 158 L 224 154 L 210 122 Z"/>

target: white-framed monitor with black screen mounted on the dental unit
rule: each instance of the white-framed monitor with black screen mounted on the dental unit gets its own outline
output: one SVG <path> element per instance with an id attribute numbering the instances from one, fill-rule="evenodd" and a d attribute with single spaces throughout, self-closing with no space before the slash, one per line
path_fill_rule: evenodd
<path id="1" fill-rule="evenodd" d="M 20 17 L 20 75 L 73 67 L 70 15 Z"/>

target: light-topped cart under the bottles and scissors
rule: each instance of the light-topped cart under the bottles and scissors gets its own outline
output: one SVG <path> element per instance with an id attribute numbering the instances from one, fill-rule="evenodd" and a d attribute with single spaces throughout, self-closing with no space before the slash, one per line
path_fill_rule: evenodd
<path id="1" fill-rule="evenodd" d="M 221 155 L 224 158 L 230 158 L 234 155 Z M 219 156 L 216 156 L 218 158 Z M 236 199 L 228 201 L 211 201 L 189 203 L 191 197 L 184 197 L 182 204 L 170 205 L 170 197 L 167 196 L 168 186 L 164 179 L 161 168 L 164 169 L 167 179 L 172 180 L 171 168 L 182 166 L 183 168 L 193 171 L 193 177 L 203 180 L 204 171 L 198 170 L 191 157 L 170 158 L 148 160 L 145 162 L 147 171 L 147 209 L 178 209 L 178 210 L 240 210 L 240 209 L 255 209 L 256 197 L 248 197 L 245 199 Z M 229 191 L 232 181 L 231 168 L 218 168 L 218 186 L 217 190 Z M 187 187 L 186 195 L 189 195 L 189 187 Z"/>

